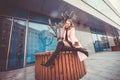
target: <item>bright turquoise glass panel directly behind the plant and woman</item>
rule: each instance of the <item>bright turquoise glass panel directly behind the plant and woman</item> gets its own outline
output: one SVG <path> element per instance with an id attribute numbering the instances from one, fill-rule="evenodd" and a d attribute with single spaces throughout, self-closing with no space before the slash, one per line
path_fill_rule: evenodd
<path id="1" fill-rule="evenodd" d="M 53 31 L 48 25 L 29 22 L 27 63 L 35 62 L 33 54 L 55 50 L 57 39 L 52 35 Z"/>

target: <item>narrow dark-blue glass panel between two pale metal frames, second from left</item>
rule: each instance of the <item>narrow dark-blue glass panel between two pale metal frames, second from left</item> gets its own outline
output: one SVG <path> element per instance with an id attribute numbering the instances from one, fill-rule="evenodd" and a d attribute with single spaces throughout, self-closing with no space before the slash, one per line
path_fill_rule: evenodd
<path id="1" fill-rule="evenodd" d="M 25 25 L 25 21 L 14 19 L 9 52 L 8 70 L 23 67 L 26 32 Z"/>

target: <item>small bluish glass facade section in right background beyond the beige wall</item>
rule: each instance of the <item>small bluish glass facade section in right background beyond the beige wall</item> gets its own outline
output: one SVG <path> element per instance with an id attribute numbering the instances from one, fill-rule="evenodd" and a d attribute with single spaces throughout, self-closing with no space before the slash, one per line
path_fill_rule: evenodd
<path id="1" fill-rule="evenodd" d="M 93 45 L 96 52 L 106 51 L 110 49 L 107 35 L 104 31 L 91 28 L 91 33 L 93 38 Z"/>

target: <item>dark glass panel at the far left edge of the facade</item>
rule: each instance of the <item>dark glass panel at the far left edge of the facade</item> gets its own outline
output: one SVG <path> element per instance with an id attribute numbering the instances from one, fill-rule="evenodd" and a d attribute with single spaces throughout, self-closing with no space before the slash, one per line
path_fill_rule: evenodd
<path id="1" fill-rule="evenodd" d="M 11 23 L 10 18 L 0 17 L 0 71 L 6 68 Z"/>

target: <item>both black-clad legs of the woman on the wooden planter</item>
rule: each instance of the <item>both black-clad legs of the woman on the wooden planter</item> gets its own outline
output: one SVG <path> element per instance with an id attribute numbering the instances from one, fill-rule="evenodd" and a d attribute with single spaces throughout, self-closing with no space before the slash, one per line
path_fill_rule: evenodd
<path id="1" fill-rule="evenodd" d="M 88 56 L 88 52 L 85 49 L 82 48 L 75 48 L 75 47 L 66 47 L 63 43 L 63 41 L 58 42 L 55 52 L 52 54 L 50 59 L 46 62 L 47 65 L 51 65 L 54 63 L 55 58 L 60 53 L 60 51 L 80 51 L 84 53 L 86 56 Z"/>

